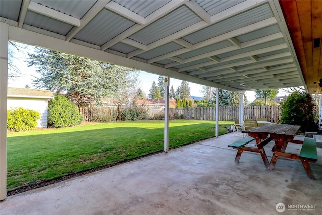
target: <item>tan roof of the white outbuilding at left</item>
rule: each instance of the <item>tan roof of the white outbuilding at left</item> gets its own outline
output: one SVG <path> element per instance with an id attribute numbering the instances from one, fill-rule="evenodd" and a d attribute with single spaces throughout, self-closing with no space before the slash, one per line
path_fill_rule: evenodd
<path id="1" fill-rule="evenodd" d="M 30 88 L 13 88 L 8 87 L 8 97 L 24 97 L 24 98 L 47 98 L 51 99 L 54 97 L 52 92 L 49 90 L 37 90 Z"/>

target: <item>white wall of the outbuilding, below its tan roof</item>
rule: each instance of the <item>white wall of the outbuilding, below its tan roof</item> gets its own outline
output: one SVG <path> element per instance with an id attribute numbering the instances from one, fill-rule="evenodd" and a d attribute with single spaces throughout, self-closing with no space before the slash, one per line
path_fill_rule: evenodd
<path id="1" fill-rule="evenodd" d="M 7 109 L 22 107 L 40 113 L 37 127 L 47 127 L 48 99 L 7 98 Z"/>

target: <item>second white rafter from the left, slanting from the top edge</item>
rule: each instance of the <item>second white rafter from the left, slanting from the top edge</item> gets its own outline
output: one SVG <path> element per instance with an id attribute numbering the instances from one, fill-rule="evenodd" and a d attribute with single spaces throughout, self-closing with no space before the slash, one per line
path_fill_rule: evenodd
<path id="1" fill-rule="evenodd" d="M 91 9 L 82 17 L 81 26 L 74 26 L 66 35 L 66 40 L 70 41 L 79 31 L 81 31 L 111 0 L 98 0 Z"/>

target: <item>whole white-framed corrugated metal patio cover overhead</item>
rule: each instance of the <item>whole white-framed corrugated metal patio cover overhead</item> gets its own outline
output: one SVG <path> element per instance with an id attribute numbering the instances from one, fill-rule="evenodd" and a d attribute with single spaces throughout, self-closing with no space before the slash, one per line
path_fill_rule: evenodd
<path id="1" fill-rule="evenodd" d="M 9 39 L 235 92 L 304 86 L 278 1 L 0 0 Z"/>

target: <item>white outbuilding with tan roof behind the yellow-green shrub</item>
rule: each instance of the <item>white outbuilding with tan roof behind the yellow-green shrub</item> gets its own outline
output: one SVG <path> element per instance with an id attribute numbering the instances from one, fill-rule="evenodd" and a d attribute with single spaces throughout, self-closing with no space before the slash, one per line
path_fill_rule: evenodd
<path id="1" fill-rule="evenodd" d="M 48 100 L 54 98 L 49 90 L 8 87 L 7 109 L 22 107 L 40 113 L 37 127 L 47 127 Z"/>

